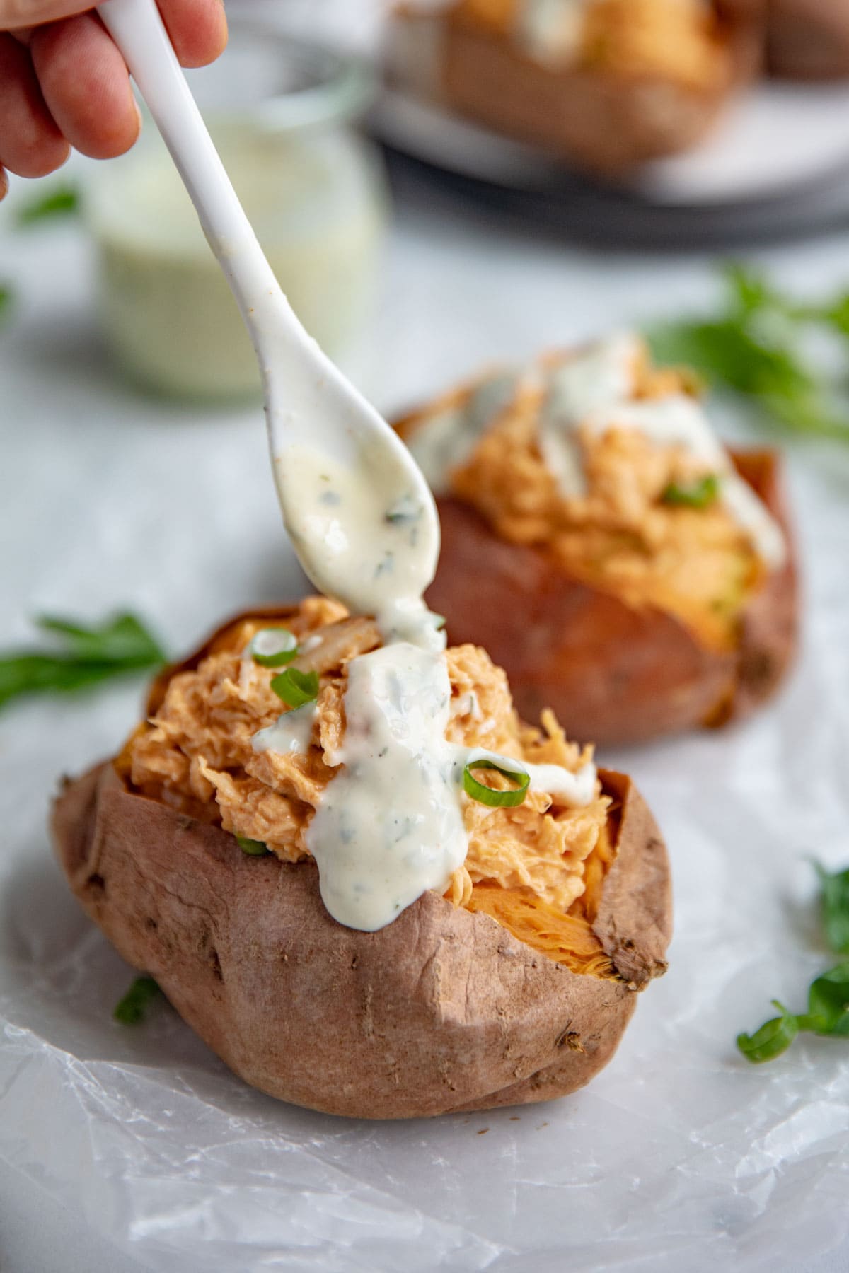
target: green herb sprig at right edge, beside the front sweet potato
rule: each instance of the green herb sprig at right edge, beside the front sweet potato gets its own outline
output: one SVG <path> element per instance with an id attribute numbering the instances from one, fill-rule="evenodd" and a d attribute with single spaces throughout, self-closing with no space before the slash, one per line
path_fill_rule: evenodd
<path id="1" fill-rule="evenodd" d="M 821 906 L 826 941 L 839 953 L 849 953 L 849 869 L 834 875 L 815 863 L 822 886 Z M 794 1016 L 773 999 L 780 1016 L 764 1022 L 754 1035 L 737 1036 L 737 1046 L 754 1064 L 774 1060 L 801 1031 L 831 1039 L 849 1039 L 849 961 L 815 978 L 808 989 L 808 1009 Z"/>

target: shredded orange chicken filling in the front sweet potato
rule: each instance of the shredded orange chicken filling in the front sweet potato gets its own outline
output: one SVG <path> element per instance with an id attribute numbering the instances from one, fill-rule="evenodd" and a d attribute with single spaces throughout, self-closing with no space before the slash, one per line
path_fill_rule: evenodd
<path id="1" fill-rule="evenodd" d="M 244 657 L 256 631 L 269 625 L 285 625 L 298 636 L 303 652 L 291 667 L 319 673 L 305 754 L 255 752 L 251 745 L 286 710 L 271 689 L 275 671 Z M 378 643 L 370 620 L 349 619 L 342 606 L 321 597 L 307 598 L 285 619 L 237 621 L 196 666 L 171 676 L 162 701 L 118 757 L 118 771 L 145 796 L 261 840 L 284 862 L 302 862 L 309 857 L 304 833 L 336 773 L 327 756 L 345 731 L 346 666 Z M 544 714 L 542 729 L 519 721 L 504 672 L 482 649 L 453 647 L 447 659 L 449 741 L 572 771 L 591 759 L 587 749 L 566 741 L 551 713 Z M 486 780 L 503 783 L 494 770 Z M 542 792 L 530 792 L 516 808 L 467 799 L 468 855 L 446 896 L 490 914 L 579 971 L 611 975 L 591 927 L 612 853 L 608 806 L 601 785 L 586 808 L 568 808 Z"/>

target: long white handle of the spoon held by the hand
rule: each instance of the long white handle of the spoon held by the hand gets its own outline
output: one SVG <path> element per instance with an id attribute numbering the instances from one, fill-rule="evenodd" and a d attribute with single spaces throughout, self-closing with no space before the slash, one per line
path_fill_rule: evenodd
<path id="1" fill-rule="evenodd" d="M 312 346 L 308 354 L 314 358 L 314 342 L 298 322 L 257 242 L 154 0 L 103 0 L 98 13 L 121 50 L 191 195 L 204 233 L 248 326 L 261 367 L 261 349 L 271 335 L 285 335 L 302 350 L 304 345 Z M 293 353 L 291 348 L 289 351 Z"/>

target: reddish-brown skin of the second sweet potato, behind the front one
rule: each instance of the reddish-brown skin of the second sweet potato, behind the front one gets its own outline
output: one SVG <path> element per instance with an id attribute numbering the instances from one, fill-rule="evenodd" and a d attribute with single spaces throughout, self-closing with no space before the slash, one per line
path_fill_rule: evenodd
<path id="1" fill-rule="evenodd" d="M 499 538 L 453 498 L 438 500 L 442 556 L 428 603 L 446 615 L 452 643 L 485 645 L 505 668 L 522 717 L 551 707 L 570 738 L 630 743 L 742 719 L 793 658 L 798 587 L 778 454 L 732 458 L 790 546 L 750 602 L 734 652 L 706 649 L 671 615 L 579 583 L 547 551 Z"/>

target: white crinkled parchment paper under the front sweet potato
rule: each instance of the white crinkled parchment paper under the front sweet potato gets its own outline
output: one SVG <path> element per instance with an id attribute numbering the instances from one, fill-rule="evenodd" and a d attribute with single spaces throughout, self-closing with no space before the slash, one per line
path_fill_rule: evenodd
<path id="1" fill-rule="evenodd" d="M 116 1025 L 131 974 L 43 819 L 52 773 L 106 751 L 136 694 L 6 715 L 0 1157 L 155 1269 L 756 1270 L 839 1242 L 849 1045 L 804 1039 L 765 1067 L 733 1046 L 830 962 L 803 855 L 849 861 L 849 527 L 820 479 L 797 490 L 804 658 L 751 726 L 628 757 L 670 843 L 671 969 L 608 1069 L 559 1102 L 349 1123 L 246 1088 L 164 1004 Z"/>

